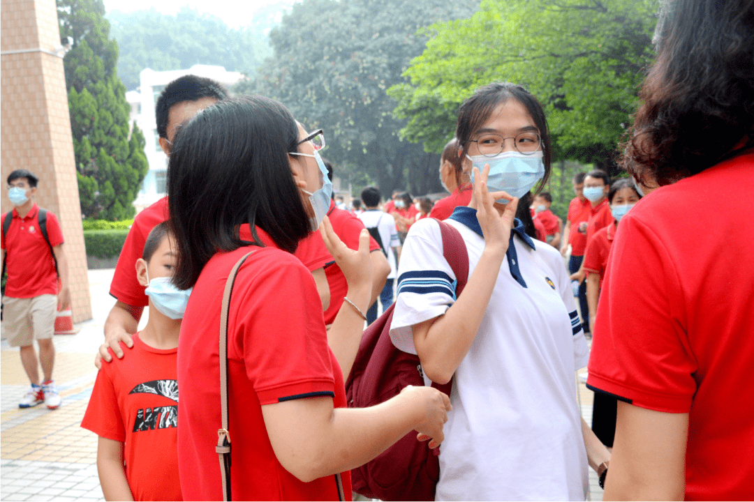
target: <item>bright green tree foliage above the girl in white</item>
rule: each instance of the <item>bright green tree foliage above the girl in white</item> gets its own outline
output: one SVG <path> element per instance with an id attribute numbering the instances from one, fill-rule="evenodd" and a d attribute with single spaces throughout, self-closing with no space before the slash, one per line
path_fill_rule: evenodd
<path id="1" fill-rule="evenodd" d="M 401 131 L 440 151 L 458 105 L 492 81 L 524 84 L 544 105 L 559 159 L 609 162 L 653 56 L 656 0 L 483 0 L 473 17 L 425 30 L 427 50 L 388 94 Z"/>

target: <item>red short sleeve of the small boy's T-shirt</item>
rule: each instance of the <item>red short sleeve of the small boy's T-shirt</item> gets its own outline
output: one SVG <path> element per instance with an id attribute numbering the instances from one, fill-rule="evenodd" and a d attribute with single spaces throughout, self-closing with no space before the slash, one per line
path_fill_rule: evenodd
<path id="1" fill-rule="evenodd" d="M 129 354 L 129 357 L 133 357 L 133 354 Z M 121 409 L 118 406 L 118 396 L 112 385 L 110 375 L 112 368 L 109 364 L 103 364 L 102 369 L 97 373 L 97 380 L 94 382 L 81 427 L 107 440 L 125 443 L 126 430 Z"/>

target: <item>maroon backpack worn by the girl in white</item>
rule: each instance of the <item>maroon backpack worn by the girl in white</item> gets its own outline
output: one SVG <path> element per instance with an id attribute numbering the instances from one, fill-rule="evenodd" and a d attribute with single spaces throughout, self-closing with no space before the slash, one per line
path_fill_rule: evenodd
<path id="1" fill-rule="evenodd" d="M 457 279 L 456 297 L 461 295 L 469 271 L 469 260 L 461 233 L 443 221 L 443 256 Z M 401 351 L 390 339 L 393 303 L 363 333 L 351 374 L 345 382 L 348 406 L 366 408 L 396 396 L 406 385 L 425 385 L 421 363 L 414 354 Z M 432 387 L 450 395 L 452 382 Z M 409 432 L 372 461 L 351 470 L 356 493 L 380 500 L 434 500 L 440 479 L 439 449 L 430 451 L 428 443 Z"/>

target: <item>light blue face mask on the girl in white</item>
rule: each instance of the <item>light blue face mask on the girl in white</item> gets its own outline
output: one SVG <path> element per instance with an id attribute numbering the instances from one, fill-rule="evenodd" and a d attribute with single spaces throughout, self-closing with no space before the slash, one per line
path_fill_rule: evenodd
<path id="1" fill-rule="evenodd" d="M 531 155 L 524 155 L 517 151 L 508 151 L 485 157 L 484 155 L 466 156 L 471 163 L 482 172 L 485 164 L 489 164 L 487 175 L 487 189 L 490 192 L 504 191 L 510 196 L 523 197 L 544 176 L 544 154 L 537 151 Z M 471 172 L 471 183 L 474 183 L 474 171 Z M 506 199 L 497 202 L 507 204 Z"/>

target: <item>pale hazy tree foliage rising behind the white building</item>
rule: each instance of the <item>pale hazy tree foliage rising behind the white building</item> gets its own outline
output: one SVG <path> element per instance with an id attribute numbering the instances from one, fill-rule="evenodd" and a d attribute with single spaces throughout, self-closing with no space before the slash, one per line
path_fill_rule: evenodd
<path id="1" fill-rule="evenodd" d="M 155 8 L 124 13 L 112 11 L 112 35 L 121 57 L 118 75 L 127 89 L 139 86 L 144 68 L 155 71 L 191 68 L 196 64 L 220 65 L 228 71 L 251 74 L 269 53 L 264 32 L 273 23 L 262 11 L 250 27 L 231 29 L 219 17 L 184 7 L 175 16 Z"/>

